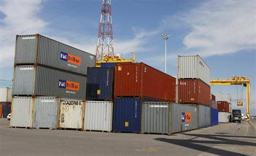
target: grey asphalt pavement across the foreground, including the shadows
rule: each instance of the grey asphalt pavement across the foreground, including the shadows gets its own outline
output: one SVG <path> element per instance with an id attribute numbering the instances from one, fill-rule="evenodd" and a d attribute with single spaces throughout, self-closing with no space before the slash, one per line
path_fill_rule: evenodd
<path id="1" fill-rule="evenodd" d="M 0 155 L 256 155 L 256 120 L 172 136 L 9 128 L 0 119 Z"/>

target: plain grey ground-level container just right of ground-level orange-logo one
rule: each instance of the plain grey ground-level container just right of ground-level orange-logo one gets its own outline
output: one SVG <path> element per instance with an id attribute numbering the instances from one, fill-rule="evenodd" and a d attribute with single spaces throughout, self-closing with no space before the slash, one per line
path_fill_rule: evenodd
<path id="1" fill-rule="evenodd" d="M 199 105 L 199 128 L 210 126 L 210 107 Z"/>

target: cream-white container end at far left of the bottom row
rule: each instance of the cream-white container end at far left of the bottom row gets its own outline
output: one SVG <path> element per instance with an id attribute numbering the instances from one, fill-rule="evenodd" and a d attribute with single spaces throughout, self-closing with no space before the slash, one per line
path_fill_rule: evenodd
<path id="1" fill-rule="evenodd" d="M 32 128 L 34 118 L 34 103 L 32 97 L 15 97 L 11 104 L 10 127 Z"/>

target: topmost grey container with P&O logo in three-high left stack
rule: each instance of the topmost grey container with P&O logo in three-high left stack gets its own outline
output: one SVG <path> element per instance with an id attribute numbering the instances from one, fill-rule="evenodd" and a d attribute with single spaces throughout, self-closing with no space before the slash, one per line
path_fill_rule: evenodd
<path id="1" fill-rule="evenodd" d="M 86 74 L 96 56 L 42 35 L 17 35 L 14 64 L 41 64 Z"/>

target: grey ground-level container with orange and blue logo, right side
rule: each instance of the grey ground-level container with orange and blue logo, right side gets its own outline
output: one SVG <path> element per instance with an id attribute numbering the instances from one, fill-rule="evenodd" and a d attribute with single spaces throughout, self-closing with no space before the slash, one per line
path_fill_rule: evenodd
<path id="1" fill-rule="evenodd" d="M 193 104 L 172 103 L 171 133 L 183 132 L 199 128 L 198 106 Z"/>

